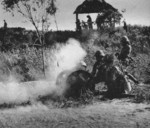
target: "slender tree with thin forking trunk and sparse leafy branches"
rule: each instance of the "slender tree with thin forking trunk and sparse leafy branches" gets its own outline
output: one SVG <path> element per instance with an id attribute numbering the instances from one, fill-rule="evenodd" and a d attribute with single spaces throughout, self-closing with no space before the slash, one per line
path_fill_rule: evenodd
<path id="1" fill-rule="evenodd" d="M 50 27 L 50 19 L 56 13 L 56 0 L 2 0 L 4 9 L 13 14 L 20 13 L 29 22 L 32 23 L 36 30 L 37 38 L 44 46 L 44 35 Z M 42 48 L 43 56 L 43 71 L 44 69 L 44 50 Z"/>

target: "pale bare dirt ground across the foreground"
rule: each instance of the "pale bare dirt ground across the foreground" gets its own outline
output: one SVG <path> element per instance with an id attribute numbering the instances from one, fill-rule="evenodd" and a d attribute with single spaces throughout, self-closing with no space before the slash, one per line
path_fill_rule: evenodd
<path id="1" fill-rule="evenodd" d="M 76 108 L 51 104 L 0 109 L 0 128 L 149 128 L 150 105 L 129 99 L 97 101 Z"/>

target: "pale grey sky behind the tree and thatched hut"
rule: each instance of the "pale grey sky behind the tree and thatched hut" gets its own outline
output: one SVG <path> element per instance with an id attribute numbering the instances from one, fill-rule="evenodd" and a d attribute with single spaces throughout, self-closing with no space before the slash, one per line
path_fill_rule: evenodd
<path id="1" fill-rule="evenodd" d="M 1 1 L 1 0 L 0 0 Z M 75 30 L 75 15 L 73 12 L 76 7 L 84 0 L 56 0 L 57 1 L 57 13 L 56 21 L 59 30 Z M 150 26 L 150 0 L 105 0 L 113 7 L 117 8 L 120 12 L 126 9 L 123 16 L 127 24 L 131 25 L 146 25 Z M 87 14 L 79 15 L 80 20 L 86 21 Z M 96 19 L 97 14 L 90 14 L 92 20 Z M 14 17 L 8 12 L 3 10 L 0 5 L 0 27 L 3 26 L 3 20 L 8 23 L 8 27 L 24 27 L 26 29 L 34 29 L 33 25 L 29 22 L 25 22 L 22 16 L 16 14 Z M 52 18 L 51 27 L 52 30 L 56 30 L 56 24 L 54 17 Z"/>

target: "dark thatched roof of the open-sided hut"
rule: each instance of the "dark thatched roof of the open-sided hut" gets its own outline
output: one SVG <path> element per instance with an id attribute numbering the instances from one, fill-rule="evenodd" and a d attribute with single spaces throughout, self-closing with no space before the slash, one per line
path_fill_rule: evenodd
<path id="1" fill-rule="evenodd" d="M 113 10 L 118 11 L 112 5 L 108 4 L 104 0 L 85 0 L 81 5 L 79 5 L 74 14 L 82 14 L 82 13 L 99 13 L 104 10 Z"/>

